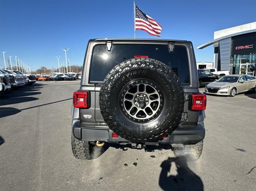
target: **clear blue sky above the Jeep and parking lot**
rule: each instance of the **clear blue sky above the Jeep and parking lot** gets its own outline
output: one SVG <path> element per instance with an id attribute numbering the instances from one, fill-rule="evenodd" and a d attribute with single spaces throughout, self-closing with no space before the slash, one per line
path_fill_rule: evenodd
<path id="1" fill-rule="evenodd" d="M 196 61 L 213 61 L 213 32 L 256 21 L 255 0 L 135 0 L 163 26 L 161 39 L 192 41 Z M 58 67 L 67 52 L 71 65 L 82 65 L 88 39 L 133 38 L 132 0 L 0 0 L 0 67 L 17 55 L 32 70 Z M 137 38 L 156 38 L 136 31 Z M 14 63 L 14 62 L 13 62 Z"/>

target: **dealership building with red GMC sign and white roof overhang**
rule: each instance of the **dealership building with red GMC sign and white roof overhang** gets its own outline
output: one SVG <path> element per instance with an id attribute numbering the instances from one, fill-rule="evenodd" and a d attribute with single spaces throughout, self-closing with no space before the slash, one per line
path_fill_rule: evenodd
<path id="1" fill-rule="evenodd" d="M 214 40 L 198 46 L 214 45 L 213 67 L 231 74 L 256 75 L 256 22 L 214 32 Z"/>

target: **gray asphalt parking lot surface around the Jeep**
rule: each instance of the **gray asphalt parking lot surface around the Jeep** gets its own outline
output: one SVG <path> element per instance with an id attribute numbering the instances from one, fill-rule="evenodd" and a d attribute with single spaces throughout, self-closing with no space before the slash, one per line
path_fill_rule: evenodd
<path id="1" fill-rule="evenodd" d="M 0 190 L 256 190 L 255 93 L 207 96 L 206 138 L 196 162 L 166 148 L 118 146 L 82 161 L 70 143 L 79 86 L 36 82 L 0 95 Z"/>

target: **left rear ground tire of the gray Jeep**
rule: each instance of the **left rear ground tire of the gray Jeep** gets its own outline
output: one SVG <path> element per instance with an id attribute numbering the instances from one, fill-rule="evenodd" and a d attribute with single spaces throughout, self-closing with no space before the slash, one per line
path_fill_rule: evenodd
<path id="1" fill-rule="evenodd" d="M 98 147 L 88 141 L 80 141 L 71 135 L 72 152 L 75 158 L 90 160 L 98 158 L 104 153 L 104 147 Z"/>

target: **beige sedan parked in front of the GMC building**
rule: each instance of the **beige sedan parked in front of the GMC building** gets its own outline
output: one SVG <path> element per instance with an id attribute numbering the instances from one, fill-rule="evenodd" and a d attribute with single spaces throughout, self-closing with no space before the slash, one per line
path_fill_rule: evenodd
<path id="1" fill-rule="evenodd" d="M 226 75 L 218 81 L 208 84 L 205 88 L 207 94 L 231 97 L 248 90 L 256 92 L 256 78 L 251 75 Z"/>

